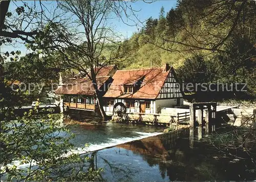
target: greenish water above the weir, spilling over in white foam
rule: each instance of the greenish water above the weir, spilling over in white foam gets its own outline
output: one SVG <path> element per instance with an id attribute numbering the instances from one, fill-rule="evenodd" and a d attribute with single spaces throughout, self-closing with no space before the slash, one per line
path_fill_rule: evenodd
<path id="1" fill-rule="evenodd" d="M 143 125 L 106 123 L 102 125 L 71 125 L 70 131 L 76 134 L 72 142 L 78 150 L 95 151 L 118 144 L 140 140 L 161 134 L 163 128 Z M 84 147 L 87 144 L 88 147 Z M 79 153 L 84 153 L 79 151 Z"/>

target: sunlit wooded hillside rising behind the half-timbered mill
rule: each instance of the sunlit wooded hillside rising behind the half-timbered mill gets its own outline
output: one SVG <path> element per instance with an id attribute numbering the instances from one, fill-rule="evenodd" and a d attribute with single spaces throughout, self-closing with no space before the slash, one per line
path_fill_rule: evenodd
<path id="1" fill-rule="evenodd" d="M 252 1 L 220 0 L 179 1 L 166 17 L 161 8 L 159 19 L 148 18 L 144 29 L 125 40 L 133 52 L 119 67 L 169 63 L 185 82 L 246 83 L 247 92 L 236 97 L 255 97 L 255 10 Z"/>

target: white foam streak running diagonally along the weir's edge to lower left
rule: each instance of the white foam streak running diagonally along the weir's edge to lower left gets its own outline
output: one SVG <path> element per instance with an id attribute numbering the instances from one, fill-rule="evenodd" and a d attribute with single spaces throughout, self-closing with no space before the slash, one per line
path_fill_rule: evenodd
<path id="1" fill-rule="evenodd" d="M 135 133 L 139 134 L 139 136 L 137 137 L 122 137 L 122 138 L 117 138 L 117 139 L 110 139 L 110 141 L 106 142 L 106 143 L 100 143 L 100 144 L 89 144 L 88 147 L 84 147 L 84 148 L 77 148 L 76 150 L 72 150 L 69 151 L 67 154 L 64 154 L 64 156 L 68 156 L 71 154 L 85 154 L 85 153 L 89 153 L 89 152 L 93 152 L 96 150 L 101 150 L 104 148 L 109 148 L 109 147 L 114 147 L 116 145 L 120 145 L 120 144 L 124 144 L 127 142 L 132 142 L 135 140 L 141 140 L 147 137 L 153 137 L 156 136 L 158 134 L 162 134 L 161 132 L 151 132 L 151 133 L 146 133 L 146 132 L 139 132 L 139 131 L 134 131 Z M 8 164 L 8 168 L 12 167 L 12 166 L 16 166 L 16 169 L 24 169 L 24 168 L 28 168 L 31 166 L 36 166 L 36 161 L 32 161 L 32 163 L 27 163 L 27 164 L 20 164 L 20 161 L 13 161 L 12 163 Z M 5 166 L 1 166 L 1 169 L 4 169 Z"/>

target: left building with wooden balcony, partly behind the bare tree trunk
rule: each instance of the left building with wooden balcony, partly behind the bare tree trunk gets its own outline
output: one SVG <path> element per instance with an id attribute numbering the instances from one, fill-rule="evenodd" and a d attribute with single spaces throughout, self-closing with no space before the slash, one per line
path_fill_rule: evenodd
<path id="1" fill-rule="evenodd" d="M 101 96 L 108 90 L 116 70 L 116 65 L 95 68 L 97 86 Z M 95 89 L 91 79 L 84 73 L 79 73 L 63 81 L 55 90 L 55 94 L 60 96 L 60 104 L 63 104 L 63 107 L 87 111 L 96 110 Z"/>

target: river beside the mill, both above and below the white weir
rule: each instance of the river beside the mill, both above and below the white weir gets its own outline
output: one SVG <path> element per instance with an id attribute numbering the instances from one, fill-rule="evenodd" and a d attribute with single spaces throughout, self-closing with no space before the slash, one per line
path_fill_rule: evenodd
<path id="1" fill-rule="evenodd" d="M 255 180 L 256 177 L 250 157 L 242 160 L 221 151 L 209 142 L 205 128 L 184 129 L 168 140 L 166 134 L 160 134 L 163 128 L 153 126 L 108 123 L 70 129 L 76 134 L 73 140 L 76 146 L 88 143 L 91 151 L 97 150 L 90 154 L 94 158 L 92 166 L 104 169 L 101 176 L 105 181 Z M 198 134 L 198 129 L 202 134 Z M 110 148 L 102 149 L 105 147 Z"/>

